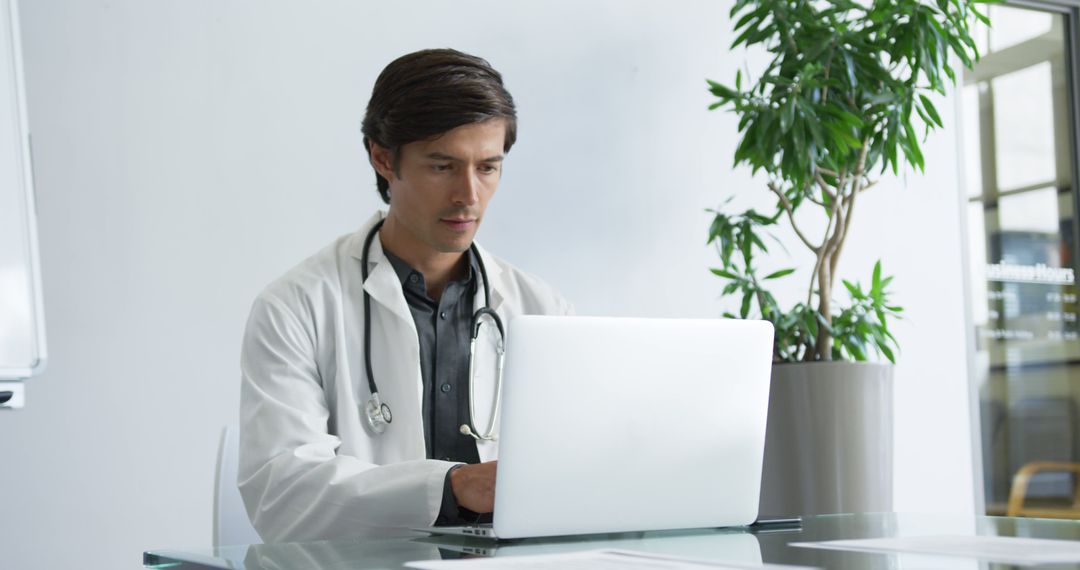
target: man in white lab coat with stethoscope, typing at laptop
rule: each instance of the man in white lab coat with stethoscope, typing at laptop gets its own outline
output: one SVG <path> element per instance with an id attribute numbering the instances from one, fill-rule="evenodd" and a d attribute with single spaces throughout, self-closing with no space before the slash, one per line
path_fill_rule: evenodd
<path id="1" fill-rule="evenodd" d="M 516 135 L 513 99 L 487 62 L 453 50 L 400 57 L 375 83 L 363 132 L 389 208 L 270 284 L 244 334 L 238 483 L 268 542 L 490 513 L 498 440 L 477 436 L 498 433 L 501 341 L 481 318 L 470 362 L 473 315 L 570 312 L 474 247 Z"/>

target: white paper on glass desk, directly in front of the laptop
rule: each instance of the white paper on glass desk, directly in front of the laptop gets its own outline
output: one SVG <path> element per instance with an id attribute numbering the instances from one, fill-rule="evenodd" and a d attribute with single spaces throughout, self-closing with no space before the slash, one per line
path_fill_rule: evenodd
<path id="1" fill-rule="evenodd" d="M 794 566 L 731 566 L 710 560 L 696 560 L 657 554 L 606 548 L 570 554 L 541 554 L 536 556 L 505 556 L 499 558 L 464 558 L 458 560 L 419 560 L 408 562 L 407 568 L 420 570 L 747 570 L 784 569 Z"/>

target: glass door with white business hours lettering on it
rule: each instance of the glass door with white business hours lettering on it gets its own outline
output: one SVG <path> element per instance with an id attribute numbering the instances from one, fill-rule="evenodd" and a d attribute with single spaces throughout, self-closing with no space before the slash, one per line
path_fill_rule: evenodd
<path id="1" fill-rule="evenodd" d="M 986 513 L 1080 518 L 1075 15 L 988 12 L 961 91 Z"/>

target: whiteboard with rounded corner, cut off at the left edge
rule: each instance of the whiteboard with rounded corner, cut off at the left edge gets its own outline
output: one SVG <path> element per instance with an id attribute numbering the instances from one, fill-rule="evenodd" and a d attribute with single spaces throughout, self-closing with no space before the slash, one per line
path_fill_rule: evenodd
<path id="1" fill-rule="evenodd" d="M 15 0 L 0 0 L 0 380 L 30 378 L 45 364 L 17 8 Z"/>

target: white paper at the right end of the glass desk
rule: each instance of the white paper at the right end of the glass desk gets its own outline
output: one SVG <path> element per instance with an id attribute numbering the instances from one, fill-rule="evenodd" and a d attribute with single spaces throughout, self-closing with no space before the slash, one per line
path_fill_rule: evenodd
<path id="1" fill-rule="evenodd" d="M 1016 537 L 909 537 L 793 542 L 791 545 L 836 551 L 963 556 L 1020 566 L 1080 562 L 1080 541 Z"/>

